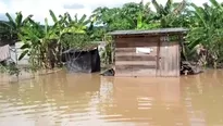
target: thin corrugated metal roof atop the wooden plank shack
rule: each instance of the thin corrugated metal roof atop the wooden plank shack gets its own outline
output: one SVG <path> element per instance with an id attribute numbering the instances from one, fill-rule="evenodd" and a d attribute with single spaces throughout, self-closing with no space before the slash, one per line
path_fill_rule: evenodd
<path id="1" fill-rule="evenodd" d="M 186 28 L 160 28 L 160 29 L 150 29 L 150 30 L 114 30 L 108 33 L 108 35 L 140 35 L 140 34 L 168 34 L 168 33 L 184 33 L 187 32 Z"/>

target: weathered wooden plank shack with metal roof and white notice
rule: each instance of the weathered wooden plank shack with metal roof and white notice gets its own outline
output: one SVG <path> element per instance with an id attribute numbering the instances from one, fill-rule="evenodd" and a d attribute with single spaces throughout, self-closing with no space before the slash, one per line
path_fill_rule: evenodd
<path id="1" fill-rule="evenodd" d="M 115 30 L 115 76 L 178 77 L 185 28 Z"/>

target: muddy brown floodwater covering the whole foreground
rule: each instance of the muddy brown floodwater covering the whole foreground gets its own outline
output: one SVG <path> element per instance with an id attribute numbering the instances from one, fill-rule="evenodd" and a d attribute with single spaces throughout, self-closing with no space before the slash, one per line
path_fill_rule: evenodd
<path id="1" fill-rule="evenodd" d="M 223 71 L 181 78 L 60 72 L 0 83 L 0 126 L 223 126 Z"/>

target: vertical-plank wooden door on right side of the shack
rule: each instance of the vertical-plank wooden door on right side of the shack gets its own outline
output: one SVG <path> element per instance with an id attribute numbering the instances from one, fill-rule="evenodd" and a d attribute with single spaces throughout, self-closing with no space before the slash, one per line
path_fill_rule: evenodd
<path id="1" fill-rule="evenodd" d="M 159 75 L 163 77 L 179 76 L 178 42 L 162 41 L 160 47 Z"/>

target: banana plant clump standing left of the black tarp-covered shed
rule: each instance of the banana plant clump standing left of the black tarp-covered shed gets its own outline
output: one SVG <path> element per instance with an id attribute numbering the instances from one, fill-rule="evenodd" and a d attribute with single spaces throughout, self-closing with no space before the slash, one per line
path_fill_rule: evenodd
<path id="1" fill-rule="evenodd" d="M 49 52 L 48 46 L 51 40 L 59 39 L 57 35 L 55 26 L 49 26 L 48 20 L 45 20 L 45 28 L 39 24 L 33 23 L 30 26 L 25 26 L 22 28 L 23 34 L 20 34 L 20 39 L 24 42 L 21 47 L 23 50 L 18 60 L 22 60 L 26 54 L 30 55 L 30 61 L 33 65 L 41 65 L 45 63 L 47 67 L 47 53 Z"/>

